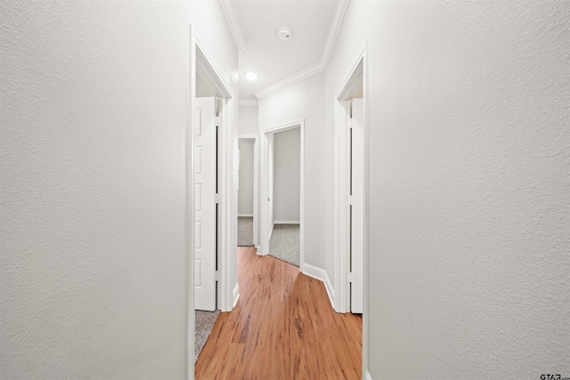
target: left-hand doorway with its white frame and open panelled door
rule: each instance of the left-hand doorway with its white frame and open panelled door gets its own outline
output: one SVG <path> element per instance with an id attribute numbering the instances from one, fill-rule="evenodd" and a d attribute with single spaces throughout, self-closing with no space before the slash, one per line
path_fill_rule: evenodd
<path id="1" fill-rule="evenodd" d="M 233 185 L 234 101 L 190 28 L 190 91 L 186 130 L 188 378 L 197 357 L 196 315 L 232 309 L 235 221 Z M 237 281 L 237 280 L 236 280 Z M 229 289 L 228 289 L 229 288 Z M 235 296 L 234 296 L 235 294 Z M 211 311 L 214 310 L 214 311 Z M 201 319 L 200 319 L 201 328 Z M 200 335 L 200 334 L 199 334 Z M 199 336 L 198 335 L 198 336 Z"/>

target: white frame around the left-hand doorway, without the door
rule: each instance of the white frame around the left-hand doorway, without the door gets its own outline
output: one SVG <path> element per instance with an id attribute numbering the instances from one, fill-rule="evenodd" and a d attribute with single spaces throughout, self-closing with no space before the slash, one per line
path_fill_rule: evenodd
<path id="1" fill-rule="evenodd" d="M 234 299 L 237 300 L 237 183 L 235 181 L 234 160 L 236 140 L 234 139 L 235 99 L 232 87 L 227 85 L 218 74 L 215 65 L 208 58 L 204 46 L 199 43 L 199 36 L 189 26 L 189 87 L 186 92 L 186 128 L 185 128 L 185 256 L 186 256 L 186 378 L 194 378 L 194 169 L 195 169 L 195 137 L 194 107 L 196 104 L 196 75 L 207 78 L 216 96 L 221 99 L 220 128 L 218 136 L 218 254 L 217 268 L 220 274 L 217 287 L 217 307 L 222 311 L 232 310 Z M 233 255 L 231 255 L 233 253 Z M 235 280 L 235 281 L 234 281 Z M 232 283 L 236 286 L 232 288 Z"/>

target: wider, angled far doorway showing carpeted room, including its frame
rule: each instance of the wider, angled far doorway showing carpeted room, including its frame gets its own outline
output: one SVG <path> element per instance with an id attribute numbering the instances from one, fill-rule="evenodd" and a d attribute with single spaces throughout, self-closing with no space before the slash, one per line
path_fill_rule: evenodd
<path id="1" fill-rule="evenodd" d="M 261 141 L 261 255 L 273 249 L 303 271 L 305 120 L 266 129 Z M 293 255 L 279 256 L 277 250 Z"/>

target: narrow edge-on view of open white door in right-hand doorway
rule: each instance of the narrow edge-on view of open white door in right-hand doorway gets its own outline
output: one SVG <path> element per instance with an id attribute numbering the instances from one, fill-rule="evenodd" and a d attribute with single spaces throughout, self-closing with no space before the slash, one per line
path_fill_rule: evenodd
<path id="1" fill-rule="evenodd" d="M 364 103 L 352 101 L 351 118 L 351 245 L 350 311 L 362 313 L 362 283 L 364 265 Z"/>

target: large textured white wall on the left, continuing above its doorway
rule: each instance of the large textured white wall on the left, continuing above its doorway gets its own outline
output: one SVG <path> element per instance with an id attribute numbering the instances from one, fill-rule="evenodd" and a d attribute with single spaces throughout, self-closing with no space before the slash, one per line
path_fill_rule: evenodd
<path id="1" fill-rule="evenodd" d="M 232 83 L 219 4 L 0 13 L 0 377 L 183 378 L 189 25 Z"/>

